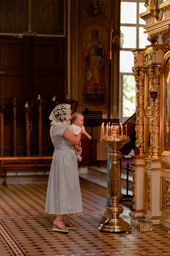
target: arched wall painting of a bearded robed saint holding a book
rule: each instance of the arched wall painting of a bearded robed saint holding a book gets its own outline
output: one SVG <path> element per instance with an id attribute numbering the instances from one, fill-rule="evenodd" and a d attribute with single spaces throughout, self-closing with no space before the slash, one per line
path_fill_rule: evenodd
<path id="1" fill-rule="evenodd" d="M 110 29 L 101 21 L 88 20 L 78 33 L 78 109 L 108 109 Z"/>

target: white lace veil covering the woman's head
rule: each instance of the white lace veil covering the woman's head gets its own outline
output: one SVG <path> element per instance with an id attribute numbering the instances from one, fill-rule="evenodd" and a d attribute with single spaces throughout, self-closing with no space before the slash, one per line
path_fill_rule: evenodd
<path id="1" fill-rule="evenodd" d="M 51 124 L 59 124 L 61 122 L 65 123 L 68 128 L 70 128 L 70 114 L 71 114 L 71 105 L 69 104 L 60 104 L 57 105 L 51 112 L 49 119 L 52 121 Z"/>

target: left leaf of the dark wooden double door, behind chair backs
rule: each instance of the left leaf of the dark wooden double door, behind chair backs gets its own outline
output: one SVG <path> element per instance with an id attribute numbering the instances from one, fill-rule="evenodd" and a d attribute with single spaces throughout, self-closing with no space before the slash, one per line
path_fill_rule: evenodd
<path id="1" fill-rule="evenodd" d="M 13 98 L 17 107 L 29 95 L 29 42 L 26 39 L 0 39 L 0 99 L 4 102 L 4 155 L 14 155 Z M 24 125 L 17 124 L 18 154 L 24 154 Z"/>

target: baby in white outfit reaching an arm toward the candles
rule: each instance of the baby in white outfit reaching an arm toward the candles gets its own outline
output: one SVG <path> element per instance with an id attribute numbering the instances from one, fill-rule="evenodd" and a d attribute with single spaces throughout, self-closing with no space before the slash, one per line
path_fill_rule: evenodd
<path id="1" fill-rule="evenodd" d="M 75 112 L 71 115 L 71 120 L 72 120 L 72 124 L 70 127 L 70 130 L 72 133 L 75 133 L 76 135 L 78 135 L 80 132 L 83 133 L 85 136 L 87 136 L 87 138 L 89 138 L 89 140 L 92 139 L 92 137 L 85 131 L 85 128 L 83 126 L 84 123 L 84 116 L 78 112 Z M 81 161 L 81 151 L 82 148 L 78 147 L 77 145 L 75 145 L 76 150 L 78 151 L 77 153 L 77 159 L 79 161 Z"/>

